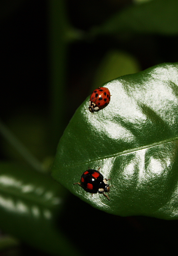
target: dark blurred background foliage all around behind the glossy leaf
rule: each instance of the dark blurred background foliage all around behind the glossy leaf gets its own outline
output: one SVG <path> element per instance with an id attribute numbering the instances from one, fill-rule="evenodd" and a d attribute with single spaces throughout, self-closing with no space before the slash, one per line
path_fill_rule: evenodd
<path id="1" fill-rule="evenodd" d="M 84 235 L 98 241 L 93 255 L 114 254 L 116 246 L 121 255 L 177 249 L 177 221 L 101 212 L 49 171 L 66 125 L 93 88 L 177 62 L 177 13 L 174 0 L 1 2 L 2 255 L 88 255 Z"/>

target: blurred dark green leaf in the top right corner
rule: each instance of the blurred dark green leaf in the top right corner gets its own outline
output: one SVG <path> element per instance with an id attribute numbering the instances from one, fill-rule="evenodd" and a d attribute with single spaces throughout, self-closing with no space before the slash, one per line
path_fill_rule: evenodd
<path id="1" fill-rule="evenodd" d="M 152 0 L 116 13 L 91 34 L 155 33 L 178 34 L 178 1 Z"/>

